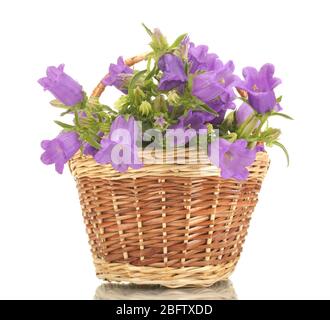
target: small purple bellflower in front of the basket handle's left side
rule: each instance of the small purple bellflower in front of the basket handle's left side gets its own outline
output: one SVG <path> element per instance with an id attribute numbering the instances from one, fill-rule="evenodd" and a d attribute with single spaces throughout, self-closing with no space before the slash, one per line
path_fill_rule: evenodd
<path id="1" fill-rule="evenodd" d="M 133 69 L 125 64 L 123 57 L 119 57 L 117 64 L 111 63 L 109 75 L 103 79 L 103 84 L 114 86 L 123 93 L 127 93 L 127 85 L 133 74 Z"/>

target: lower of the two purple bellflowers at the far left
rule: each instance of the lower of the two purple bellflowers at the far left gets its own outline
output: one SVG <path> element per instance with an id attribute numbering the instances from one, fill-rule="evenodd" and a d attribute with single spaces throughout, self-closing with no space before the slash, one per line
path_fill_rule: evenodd
<path id="1" fill-rule="evenodd" d="M 58 173 L 63 172 L 64 164 L 79 150 L 81 141 L 75 132 L 61 132 L 53 140 L 43 140 L 41 147 L 45 152 L 41 155 L 44 164 L 55 164 Z"/>

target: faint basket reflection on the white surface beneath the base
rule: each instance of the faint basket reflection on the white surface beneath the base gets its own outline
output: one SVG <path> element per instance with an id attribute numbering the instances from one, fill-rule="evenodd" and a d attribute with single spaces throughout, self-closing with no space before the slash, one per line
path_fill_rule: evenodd
<path id="1" fill-rule="evenodd" d="M 96 289 L 96 300 L 237 300 L 231 281 L 209 288 L 169 289 L 157 285 L 104 283 Z"/>

